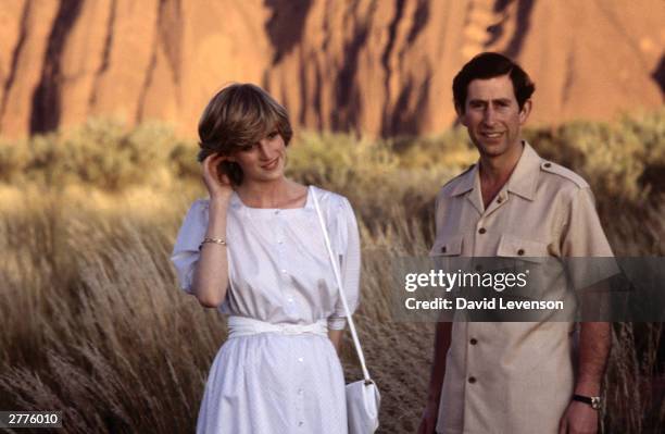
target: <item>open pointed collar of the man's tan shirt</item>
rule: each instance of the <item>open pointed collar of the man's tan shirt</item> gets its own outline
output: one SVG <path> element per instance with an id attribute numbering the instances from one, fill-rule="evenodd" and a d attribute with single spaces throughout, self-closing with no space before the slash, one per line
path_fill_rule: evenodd
<path id="1" fill-rule="evenodd" d="M 522 151 L 522 156 L 519 156 L 517 165 L 515 165 L 505 188 L 525 199 L 534 200 L 536 194 L 536 179 L 540 173 L 541 161 L 540 156 L 538 156 L 534 148 L 531 148 L 526 140 L 523 140 L 523 142 L 524 150 Z M 475 164 L 470 170 L 461 175 L 460 182 L 451 191 L 451 196 L 460 196 L 480 186 L 478 168 L 479 165 Z"/>

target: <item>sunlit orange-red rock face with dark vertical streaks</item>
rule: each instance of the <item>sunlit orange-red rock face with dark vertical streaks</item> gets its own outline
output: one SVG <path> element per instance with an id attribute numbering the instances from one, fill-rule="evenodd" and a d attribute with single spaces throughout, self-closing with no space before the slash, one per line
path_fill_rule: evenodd
<path id="1" fill-rule="evenodd" d="M 663 103 L 662 0 L 16 0 L 0 8 L 0 134 L 89 115 L 193 136 L 215 90 L 252 82 L 305 128 L 428 134 L 477 52 L 537 84 L 532 121 Z"/>

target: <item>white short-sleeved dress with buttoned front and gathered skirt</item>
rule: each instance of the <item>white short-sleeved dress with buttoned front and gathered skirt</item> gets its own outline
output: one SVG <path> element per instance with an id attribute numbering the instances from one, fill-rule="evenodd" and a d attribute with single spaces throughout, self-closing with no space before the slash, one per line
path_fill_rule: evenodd
<path id="1" fill-rule="evenodd" d="M 309 187 L 303 208 L 246 207 L 234 193 L 228 214 L 229 287 L 221 311 L 269 323 L 346 325 L 312 189 L 340 258 L 349 308 L 359 301 L 360 240 L 349 201 Z M 189 292 L 208 227 L 208 200 L 190 208 L 172 260 Z M 227 339 L 212 364 L 197 433 L 347 433 L 344 379 L 327 337 L 262 333 Z"/>

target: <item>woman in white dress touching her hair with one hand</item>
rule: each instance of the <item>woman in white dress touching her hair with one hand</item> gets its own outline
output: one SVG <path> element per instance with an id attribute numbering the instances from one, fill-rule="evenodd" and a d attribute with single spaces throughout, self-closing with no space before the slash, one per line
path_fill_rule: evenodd
<path id="1" fill-rule="evenodd" d="M 346 325 L 318 199 L 353 311 L 360 243 L 349 201 L 285 177 L 286 110 L 250 84 L 224 88 L 199 122 L 210 200 L 196 201 L 173 252 L 183 289 L 229 314 L 198 433 L 346 433 L 336 350 Z"/>

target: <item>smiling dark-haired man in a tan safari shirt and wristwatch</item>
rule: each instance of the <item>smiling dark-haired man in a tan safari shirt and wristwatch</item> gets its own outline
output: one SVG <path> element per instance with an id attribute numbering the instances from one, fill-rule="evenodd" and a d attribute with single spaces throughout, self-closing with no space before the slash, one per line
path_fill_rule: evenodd
<path id="1" fill-rule="evenodd" d="M 612 257 L 589 185 L 520 138 L 535 90 L 510 59 L 481 53 L 453 80 L 477 164 L 437 197 L 432 256 Z M 595 433 L 608 323 L 441 322 L 419 434 Z"/>

